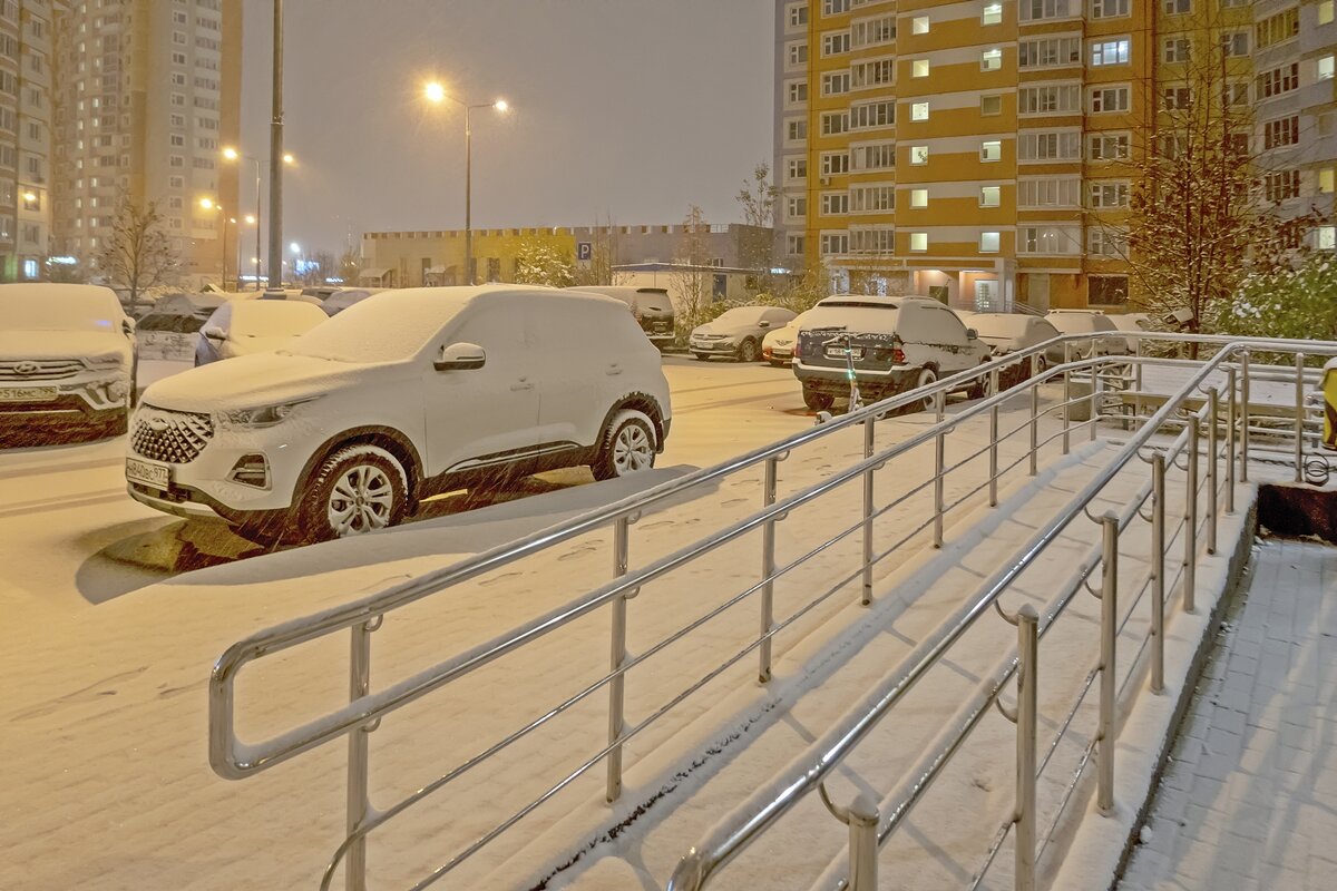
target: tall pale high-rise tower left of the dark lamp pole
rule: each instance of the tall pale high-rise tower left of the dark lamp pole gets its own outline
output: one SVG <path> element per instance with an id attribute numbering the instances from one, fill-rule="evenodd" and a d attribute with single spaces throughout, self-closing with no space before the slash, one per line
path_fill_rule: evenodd
<path id="1" fill-rule="evenodd" d="M 241 0 L 57 0 L 55 24 L 53 250 L 91 266 L 123 200 L 154 204 L 183 273 L 234 277 Z"/>

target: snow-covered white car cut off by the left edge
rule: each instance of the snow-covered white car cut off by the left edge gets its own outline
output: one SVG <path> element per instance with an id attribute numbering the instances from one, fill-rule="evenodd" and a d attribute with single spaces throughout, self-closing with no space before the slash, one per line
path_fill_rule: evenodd
<path id="1" fill-rule="evenodd" d="M 0 285 L 0 430 L 126 431 L 135 402 L 135 323 L 94 285 Z"/>

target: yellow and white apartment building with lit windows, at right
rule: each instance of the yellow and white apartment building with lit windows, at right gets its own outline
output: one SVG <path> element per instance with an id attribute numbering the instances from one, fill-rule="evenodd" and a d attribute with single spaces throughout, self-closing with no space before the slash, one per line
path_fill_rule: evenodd
<path id="1" fill-rule="evenodd" d="M 1207 47 L 1269 194 L 1332 212 L 1330 0 L 777 0 L 775 33 L 779 247 L 834 289 L 1118 309 L 1127 162 Z"/>

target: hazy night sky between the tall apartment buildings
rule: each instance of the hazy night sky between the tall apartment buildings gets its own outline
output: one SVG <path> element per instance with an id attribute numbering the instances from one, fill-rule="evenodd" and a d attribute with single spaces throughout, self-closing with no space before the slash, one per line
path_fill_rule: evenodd
<path id="1" fill-rule="evenodd" d="M 269 154 L 271 0 L 245 0 L 242 142 Z M 286 0 L 283 240 L 373 230 L 738 222 L 771 156 L 771 0 Z M 242 208 L 254 203 L 242 179 Z M 267 202 L 267 184 L 266 184 Z"/>

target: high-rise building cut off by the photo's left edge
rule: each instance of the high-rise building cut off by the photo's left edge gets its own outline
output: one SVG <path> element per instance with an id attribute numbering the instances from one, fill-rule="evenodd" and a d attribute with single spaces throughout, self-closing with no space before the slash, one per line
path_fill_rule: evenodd
<path id="1" fill-rule="evenodd" d="M 51 0 L 0 0 L 0 282 L 44 275 L 51 238 Z"/>

